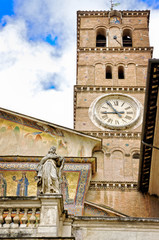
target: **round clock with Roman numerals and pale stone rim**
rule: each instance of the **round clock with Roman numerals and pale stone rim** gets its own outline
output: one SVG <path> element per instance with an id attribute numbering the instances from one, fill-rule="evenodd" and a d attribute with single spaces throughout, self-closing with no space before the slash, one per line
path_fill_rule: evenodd
<path id="1" fill-rule="evenodd" d="M 141 119 L 142 106 L 137 99 L 126 94 L 105 94 L 97 98 L 89 109 L 92 122 L 102 128 L 127 129 Z"/>

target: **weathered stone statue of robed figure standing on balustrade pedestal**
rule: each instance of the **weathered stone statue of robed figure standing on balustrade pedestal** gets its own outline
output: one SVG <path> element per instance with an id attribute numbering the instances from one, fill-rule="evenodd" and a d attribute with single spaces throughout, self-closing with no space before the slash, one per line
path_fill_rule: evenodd
<path id="1" fill-rule="evenodd" d="M 51 147 L 48 154 L 38 164 L 38 188 L 40 193 L 61 193 L 61 172 L 64 159 L 56 154 L 56 147 Z"/>

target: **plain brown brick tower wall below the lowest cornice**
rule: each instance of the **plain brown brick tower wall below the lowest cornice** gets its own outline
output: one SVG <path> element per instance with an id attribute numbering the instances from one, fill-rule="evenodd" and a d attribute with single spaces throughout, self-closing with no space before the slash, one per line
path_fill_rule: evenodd
<path id="1" fill-rule="evenodd" d="M 131 217 L 159 217 L 159 199 L 137 191 L 89 191 L 86 200 L 109 206 Z"/>

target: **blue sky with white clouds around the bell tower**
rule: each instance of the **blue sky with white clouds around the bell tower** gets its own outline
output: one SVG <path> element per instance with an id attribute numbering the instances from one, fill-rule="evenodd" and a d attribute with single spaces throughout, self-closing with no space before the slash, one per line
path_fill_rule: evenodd
<path id="1" fill-rule="evenodd" d="M 159 58 L 159 0 L 114 2 L 151 10 L 150 45 Z M 109 0 L 0 0 L 0 107 L 73 128 L 76 11 L 109 9 Z"/>

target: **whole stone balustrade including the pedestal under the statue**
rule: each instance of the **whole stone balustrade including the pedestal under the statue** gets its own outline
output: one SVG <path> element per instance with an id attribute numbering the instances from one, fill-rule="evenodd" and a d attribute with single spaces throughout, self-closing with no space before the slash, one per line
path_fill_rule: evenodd
<path id="1" fill-rule="evenodd" d="M 67 218 L 67 212 L 64 210 L 61 194 L 0 197 L 0 239 L 74 239 L 71 238 L 71 223 L 72 220 Z"/>

